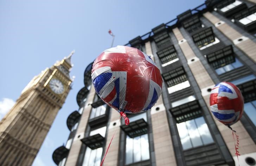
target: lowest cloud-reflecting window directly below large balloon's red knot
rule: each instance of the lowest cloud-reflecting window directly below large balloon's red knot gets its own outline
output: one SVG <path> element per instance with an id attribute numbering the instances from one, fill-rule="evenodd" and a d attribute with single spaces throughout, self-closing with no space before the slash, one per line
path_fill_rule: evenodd
<path id="1" fill-rule="evenodd" d="M 131 164 L 149 159 L 148 134 L 135 138 L 126 137 L 125 164 Z"/>

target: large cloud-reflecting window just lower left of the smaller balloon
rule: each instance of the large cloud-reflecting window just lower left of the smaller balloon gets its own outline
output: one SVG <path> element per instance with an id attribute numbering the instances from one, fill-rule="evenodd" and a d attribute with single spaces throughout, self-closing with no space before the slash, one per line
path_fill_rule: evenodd
<path id="1" fill-rule="evenodd" d="M 213 139 L 203 117 L 177 124 L 183 150 L 213 143 Z"/>

